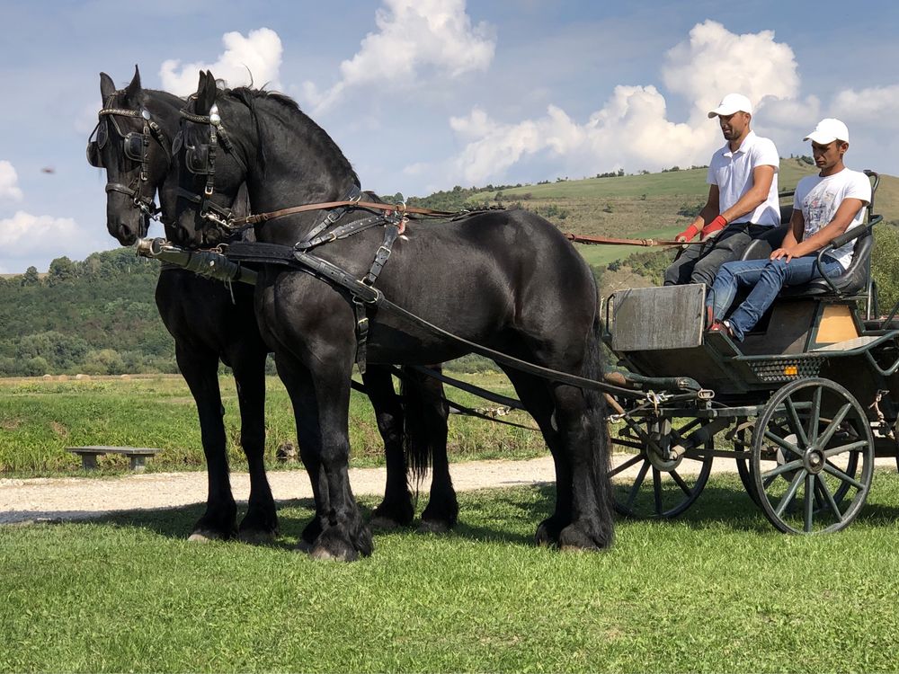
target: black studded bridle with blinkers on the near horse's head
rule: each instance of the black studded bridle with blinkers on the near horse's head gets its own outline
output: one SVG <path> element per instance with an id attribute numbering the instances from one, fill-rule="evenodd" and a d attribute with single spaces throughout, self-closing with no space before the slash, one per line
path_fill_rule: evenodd
<path id="1" fill-rule="evenodd" d="M 194 98 L 194 97 L 191 97 Z M 228 137 L 225 127 L 222 125 L 222 119 L 218 115 L 218 105 L 213 105 L 208 115 L 198 115 L 193 112 L 182 110 L 180 112 L 182 119 L 191 121 L 194 124 L 206 124 L 209 126 L 209 145 L 200 144 L 197 146 L 186 146 L 184 165 L 188 171 L 194 175 L 205 175 L 206 185 L 202 194 L 194 194 L 191 191 L 178 187 L 178 197 L 191 201 L 191 203 L 200 205 L 200 217 L 214 225 L 224 229 L 227 232 L 234 233 L 233 222 L 234 214 L 230 208 L 219 206 L 212 200 L 215 193 L 216 184 L 216 151 L 218 146 L 228 154 L 233 156 L 241 168 L 246 172 L 246 164 L 240 155 L 234 151 L 234 144 Z M 172 154 L 177 155 L 181 151 L 184 144 L 183 129 L 174 137 L 172 144 Z"/>

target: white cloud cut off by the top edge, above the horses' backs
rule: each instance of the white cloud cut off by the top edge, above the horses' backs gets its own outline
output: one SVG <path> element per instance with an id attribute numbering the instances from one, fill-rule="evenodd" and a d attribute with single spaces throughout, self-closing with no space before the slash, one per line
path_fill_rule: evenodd
<path id="1" fill-rule="evenodd" d="M 378 83 L 414 84 L 423 69 L 458 77 L 484 70 L 494 58 L 494 31 L 485 22 L 472 25 L 465 0 L 385 0 L 375 13 L 377 32 L 340 65 L 340 80 L 325 92 L 304 82 L 302 96 L 324 111 L 353 87 Z"/>

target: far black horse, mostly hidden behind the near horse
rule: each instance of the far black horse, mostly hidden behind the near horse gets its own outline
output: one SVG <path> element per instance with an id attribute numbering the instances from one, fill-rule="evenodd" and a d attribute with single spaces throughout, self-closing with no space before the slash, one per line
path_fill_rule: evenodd
<path id="1" fill-rule="evenodd" d="M 88 144 L 88 161 L 107 172 L 107 227 L 120 244 L 134 244 L 147 235 L 155 213 L 153 197 L 177 189 L 166 181 L 171 166 L 172 140 L 179 129 L 184 101 L 172 94 L 141 87 L 137 67 L 131 83 L 117 91 L 109 75 L 101 74 L 102 114 Z M 147 111 L 147 115 L 143 115 Z M 237 192 L 229 208 L 246 208 Z M 171 218 L 163 218 L 165 234 L 180 237 Z M 277 532 L 278 520 L 263 464 L 264 361 L 268 347 L 256 326 L 253 288 L 203 278 L 191 271 L 164 266 L 156 285 L 156 306 L 175 340 L 182 375 L 191 388 L 200 417 L 203 451 L 209 470 L 207 510 L 197 522 L 192 539 L 228 538 L 261 540 Z M 218 361 L 234 371 L 241 413 L 241 445 L 250 470 L 249 509 L 236 527 L 236 504 L 228 478 L 224 409 L 218 387 Z M 414 373 L 406 377 L 415 378 Z M 394 393 L 384 368 L 367 377 L 376 392 L 378 429 L 385 440 L 387 489 L 376 510 L 378 526 L 405 525 L 414 517 L 412 494 L 406 481 L 409 460 L 419 472 L 433 455 L 431 500 L 422 515 L 423 528 L 453 526 L 458 504 L 446 464 L 446 412 L 442 388 L 422 382 L 422 394 L 408 396 L 404 405 Z M 405 421 L 405 424 L 404 424 Z"/>

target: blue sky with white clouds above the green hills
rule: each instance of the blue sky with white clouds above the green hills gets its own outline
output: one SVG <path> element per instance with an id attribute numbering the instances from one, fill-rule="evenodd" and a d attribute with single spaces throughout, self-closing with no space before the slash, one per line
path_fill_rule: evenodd
<path id="1" fill-rule="evenodd" d="M 0 25 L 0 273 L 118 245 L 85 145 L 99 74 L 136 64 L 180 95 L 252 74 L 388 195 L 708 164 L 731 92 L 781 156 L 837 117 L 850 167 L 899 174 L 894 0 L 4 0 Z"/>

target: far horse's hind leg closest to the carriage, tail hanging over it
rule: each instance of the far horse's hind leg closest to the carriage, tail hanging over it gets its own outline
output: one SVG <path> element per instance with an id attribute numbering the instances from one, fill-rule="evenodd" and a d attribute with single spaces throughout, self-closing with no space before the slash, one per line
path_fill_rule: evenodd
<path id="1" fill-rule="evenodd" d="M 440 365 L 432 366 L 440 371 Z M 437 379 L 406 368 L 411 385 L 403 383 L 405 404 L 405 446 L 413 472 L 421 479 L 431 464 L 431 493 L 422 512 L 421 531 L 444 533 L 456 526 L 458 499 L 449 476 L 447 457 L 447 417 L 443 385 Z M 408 393 L 407 393 L 408 392 Z"/>

